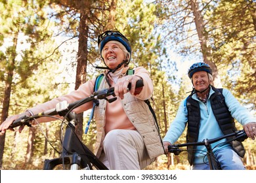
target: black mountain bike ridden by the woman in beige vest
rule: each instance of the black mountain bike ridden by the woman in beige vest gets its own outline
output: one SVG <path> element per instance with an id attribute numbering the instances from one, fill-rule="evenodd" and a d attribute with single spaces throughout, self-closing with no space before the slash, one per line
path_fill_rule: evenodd
<path id="1" fill-rule="evenodd" d="M 135 88 L 144 86 L 142 80 L 138 80 Z M 131 83 L 128 85 L 127 90 L 131 90 Z M 107 97 L 112 95 L 114 98 L 108 99 Z M 89 97 L 75 101 L 68 104 L 67 101 L 57 103 L 56 108 L 35 114 L 33 116 L 21 116 L 17 120 L 14 120 L 10 125 L 11 128 L 18 127 L 20 125 L 32 126 L 32 121 L 43 116 L 51 117 L 54 115 L 63 116 L 62 124 L 66 124 L 66 131 L 64 139 L 62 141 L 62 152 L 59 158 L 45 159 L 43 169 L 53 170 L 58 165 L 62 165 L 63 169 L 98 169 L 107 170 L 108 168 L 98 159 L 89 148 L 83 142 L 79 140 L 79 137 L 75 134 L 75 125 L 77 125 L 76 114 L 72 110 L 90 101 L 97 99 L 106 99 L 108 102 L 115 101 L 116 95 L 114 93 L 114 87 L 104 90 L 98 90 Z"/>

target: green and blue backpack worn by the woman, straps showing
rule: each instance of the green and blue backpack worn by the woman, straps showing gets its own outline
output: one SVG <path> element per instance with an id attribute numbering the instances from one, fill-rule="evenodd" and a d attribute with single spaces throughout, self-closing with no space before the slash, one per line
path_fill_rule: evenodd
<path id="1" fill-rule="evenodd" d="M 135 72 L 135 71 L 134 71 L 133 69 L 128 69 L 127 72 L 126 72 L 126 75 L 133 75 L 134 72 Z M 104 76 L 104 74 L 101 74 L 101 75 L 98 75 L 98 76 L 96 77 L 95 87 L 94 87 L 94 89 L 93 89 L 94 92 L 96 92 L 96 91 L 98 90 L 98 88 L 100 87 L 100 83 L 101 83 L 101 81 L 102 81 L 103 76 Z M 156 125 L 157 125 L 157 127 L 158 127 L 158 131 L 159 131 L 160 129 L 159 129 L 159 126 L 158 126 L 158 121 L 156 120 L 156 114 L 155 114 L 153 108 L 152 108 L 151 105 L 150 105 L 149 99 L 145 100 L 144 102 L 145 102 L 145 103 L 148 105 L 148 107 L 150 108 L 150 111 L 152 112 L 152 114 L 153 114 L 153 116 L 154 116 L 154 119 L 155 119 L 155 121 L 156 121 Z M 93 119 L 93 114 L 94 114 L 94 111 L 95 111 L 95 107 L 96 107 L 96 106 L 98 106 L 98 100 L 95 99 L 95 101 L 93 101 L 93 108 L 92 108 L 92 110 L 91 110 L 91 115 L 90 115 L 89 121 L 87 122 L 87 125 L 86 125 L 86 127 L 85 127 L 85 134 L 87 134 L 87 131 L 88 131 L 89 126 L 90 126 L 90 123 L 91 123 L 91 120 Z"/>

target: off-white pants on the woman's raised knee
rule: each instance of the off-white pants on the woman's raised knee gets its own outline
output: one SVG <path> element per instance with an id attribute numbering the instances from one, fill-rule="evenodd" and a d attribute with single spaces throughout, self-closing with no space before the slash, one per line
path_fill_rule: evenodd
<path id="1" fill-rule="evenodd" d="M 100 161 L 111 170 L 144 169 L 156 160 L 150 159 L 138 131 L 114 129 L 103 141 Z"/>

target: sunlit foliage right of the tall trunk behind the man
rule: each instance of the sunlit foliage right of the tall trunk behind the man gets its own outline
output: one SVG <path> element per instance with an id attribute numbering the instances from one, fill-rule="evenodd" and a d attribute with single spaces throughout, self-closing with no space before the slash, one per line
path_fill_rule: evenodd
<path id="1" fill-rule="evenodd" d="M 211 35 L 213 47 L 212 58 L 219 69 L 228 71 L 232 81 L 229 87 L 234 95 L 242 103 L 250 104 L 253 109 L 256 88 L 253 1 L 223 0 L 207 14 L 210 23 L 207 31 Z"/>

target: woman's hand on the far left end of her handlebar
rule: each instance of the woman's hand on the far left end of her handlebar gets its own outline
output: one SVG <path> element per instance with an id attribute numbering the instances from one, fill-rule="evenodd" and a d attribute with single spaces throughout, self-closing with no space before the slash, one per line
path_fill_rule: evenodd
<path id="1" fill-rule="evenodd" d="M 30 112 L 24 112 L 24 113 L 21 113 L 21 114 L 16 114 L 16 115 L 13 115 L 13 116 L 9 116 L 1 125 L 0 125 L 0 132 L 1 134 L 4 134 L 5 131 L 7 129 L 10 129 L 11 131 L 14 131 L 13 128 L 9 128 L 9 126 L 12 124 L 12 122 L 14 122 L 16 119 L 24 116 L 24 115 L 28 115 L 28 116 L 31 116 Z M 22 132 L 22 129 L 24 129 L 24 125 L 20 125 L 20 127 L 18 128 L 18 131 L 21 133 Z"/>

